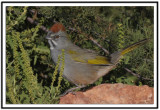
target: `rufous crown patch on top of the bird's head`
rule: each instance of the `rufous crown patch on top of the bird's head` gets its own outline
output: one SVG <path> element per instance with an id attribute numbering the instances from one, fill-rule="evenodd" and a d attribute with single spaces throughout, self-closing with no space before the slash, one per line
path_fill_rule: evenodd
<path id="1" fill-rule="evenodd" d="M 54 33 L 59 32 L 59 31 L 65 31 L 65 27 L 61 23 L 55 23 L 50 30 Z"/>

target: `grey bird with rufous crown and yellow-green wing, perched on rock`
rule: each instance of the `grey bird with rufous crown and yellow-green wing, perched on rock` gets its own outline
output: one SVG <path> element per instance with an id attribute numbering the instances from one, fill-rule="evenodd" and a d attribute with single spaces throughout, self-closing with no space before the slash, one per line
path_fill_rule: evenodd
<path id="1" fill-rule="evenodd" d="M 93 84 L 100 77 L 108 74 L 113 68 L 116 68 L 123 55 L 144 45 L 150 40 L 149 38 L 143 39 L 119 51 L 113 52 L 107 57 L 100 56 L 94 51 L 88 51 L 88 49 L 82 49 L 72 43 L 66 33 L 66 28 L 59 22 L 52 25 L 45 38 L 48 40 L 51 58 L 55 64 L 58 61 L 58 55 L 64 49 L 65 66 L 63 77 L 76 85 L 76 87 L 64 92 L 63 95 Z M 60 67 L 61 65 L 59 69 Z"/>

